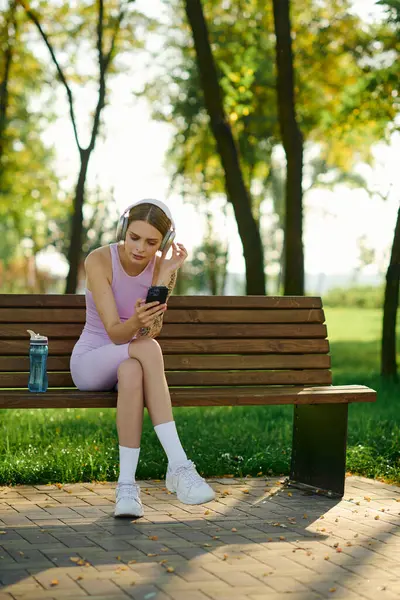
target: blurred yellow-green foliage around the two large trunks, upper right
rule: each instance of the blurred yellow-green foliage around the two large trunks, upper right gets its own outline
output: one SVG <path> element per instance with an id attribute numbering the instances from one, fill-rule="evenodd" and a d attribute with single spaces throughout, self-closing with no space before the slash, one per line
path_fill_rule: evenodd
<path id="1" fill-rule="evenodd" d="M 143 94 L 154 117 L 176 131 L 168 153 L 172 185 L 196 202 L 207 172 L 210 195 L 220 197 L 225 175 L 210 130 L 191 32 L 180 2 L 166 4 L 170 18 L 160 54 L 166 68 L 160 67 L 157 80 Z M 229 10 L 223 0 L 203 0 L 202 6 L 227 120 L 258 222 L 261 203 L 274 193 L 271 157 L 281 138 L 272 3 L 262 10 L 258 0 L 231 0 Z M 292 5 L 299 127 L 306 145 L 320 150 L 326 171 L 347 176 L 356 162 L 371 160 L 371 146 L 387 137 L 388 123 L 398 114 L 397 81 L 384 82 L 384 63 L 376 61 L 377 47 L 384 50 L 388 27 L 366 25 L 349 8 L 348 0 L 304 0 Z M 156 59 L 152 56 L 153 63 Z M 268 264 L 270 256 L 265 261 Z"/>

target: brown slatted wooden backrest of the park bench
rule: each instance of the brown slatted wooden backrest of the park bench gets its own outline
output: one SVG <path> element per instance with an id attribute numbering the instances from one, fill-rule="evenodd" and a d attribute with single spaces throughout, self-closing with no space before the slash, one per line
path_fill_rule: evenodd
<path id="1" fill-rule="evenodd" d="M 170 386 L 332 383 L 321 298 L 172 296 L 158 338 Z M 29 334 L 49 338 L 49 387 L 72 387 L 83 295 L 0 295 L 0 388 L 26 388 Z"/>

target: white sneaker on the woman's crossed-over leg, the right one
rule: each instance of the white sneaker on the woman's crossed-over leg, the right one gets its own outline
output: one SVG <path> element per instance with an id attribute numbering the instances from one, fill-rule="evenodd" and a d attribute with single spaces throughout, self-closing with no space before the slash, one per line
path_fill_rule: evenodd
<path id="1" fill-rule="evenodd" d="M 191 460 L 187 460 L 172 471 L 167 469 L 166 486 L 170 492 L 176 492 L 178 500 L 184 504 L 204 504 L 215 499 L 215 492 L 200 477 Z"/>

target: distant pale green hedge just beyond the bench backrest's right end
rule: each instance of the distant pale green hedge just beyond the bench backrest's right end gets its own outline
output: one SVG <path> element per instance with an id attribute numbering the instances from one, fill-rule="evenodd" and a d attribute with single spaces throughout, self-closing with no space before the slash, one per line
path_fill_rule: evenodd
<path id="1" fill-rule="evenodd" d="M 349 288 L 332 288 L 323 296 L 325 306 L 347 308 L 382 308 L 383 286 L 357 285 Z"/>

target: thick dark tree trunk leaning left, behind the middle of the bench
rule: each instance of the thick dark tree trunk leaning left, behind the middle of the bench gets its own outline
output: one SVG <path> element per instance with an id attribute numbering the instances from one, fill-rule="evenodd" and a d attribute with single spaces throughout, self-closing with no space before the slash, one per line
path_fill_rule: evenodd
<path id="1" fill-rule="evenodd" d="M 265 294 L 264 256 L 260 232 L 251 212 L 251 197 L 244 183 L 237 145 L 226 119 L 222 91 L 211 51 L 201 0 L 186 0 L 204 103 L 225 174 L 225 189 L 232 203 L 246 264 L 246 293 Z"/>

